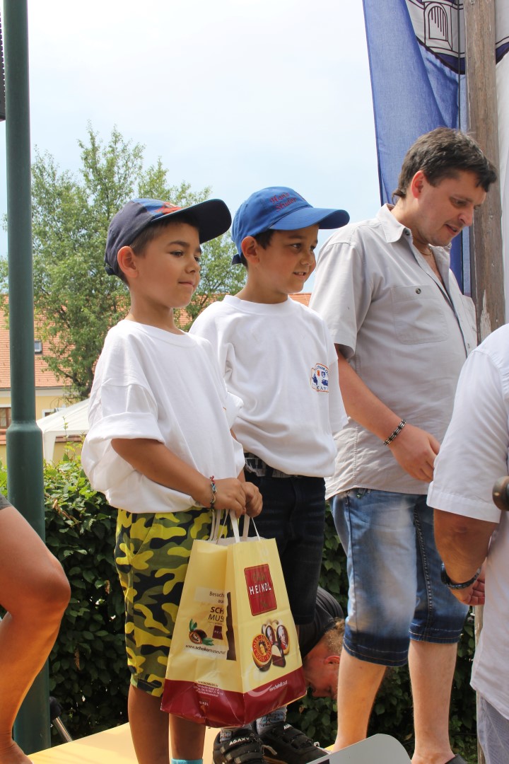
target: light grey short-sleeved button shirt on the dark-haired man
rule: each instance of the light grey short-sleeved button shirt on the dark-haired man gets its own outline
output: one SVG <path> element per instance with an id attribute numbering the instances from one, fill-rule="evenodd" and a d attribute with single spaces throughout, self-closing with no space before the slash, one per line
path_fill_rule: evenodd
<path id="1" fill-rule="evenodd" d="M 345 225 L 318 257 L 311 307 L 362 381 L 389 409 L 440 442 L 453 411 L 459 372 L 475 348 L 475 310 L 433 247 L 443 284 L 387 206 Z M 445 286 L 444 286 L 445 285 Z M 391 433 L 388 432 L 387 435 Z M 337 434 L 327 496 L 362 487 L 426 494 L 391 449 L 350 419 Z"/>

